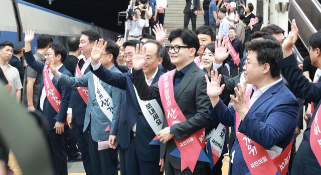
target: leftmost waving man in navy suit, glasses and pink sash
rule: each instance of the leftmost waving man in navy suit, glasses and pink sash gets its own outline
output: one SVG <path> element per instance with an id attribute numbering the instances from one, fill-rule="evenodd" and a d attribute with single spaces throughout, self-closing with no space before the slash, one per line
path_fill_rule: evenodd
<path id="1" fill-rule="evenodd" d="M 42 72 L 44 68 L 46 68 L 46 64 L 47 66 L 50 65 L 51 60 L 51 63 L 55 64 L 57 71 L 60 71 L 68 76 L 72 76 L 62 63 L 67 56 L 67 51 L 63 45 L 51 44 L 45 56 L 46 64 L 44 64 L 42 62 L 36 61 L 31 51 L 30 43 L 35 37 L 34 31 L 27 30 L 25 34 L 24 55 L 30 67 L 38 72 Z M 61 94 L 60 106 L 57 112 L 56 107 L 58 105 L 52 104 L 52 102 L 50 101 L 50 97 L 47 97 L 50 96 L 50 93 L 46 92 L 43 74 L 40 83 L 41 90 L 39 94 L 37 109 L 42 111 L 42 114 L 44 115 L 44 117 L 46 117 L 49 124 L 49 140 L 55 172 L 56 174 L 67 175 L 67 156 L 64 147 L 64 125 L 66 121 L 71 88 L 59 83 L 51 73 L 48 72 L 47 74 L 49 75 L 53 86 Z M 50 83 L 46 83 L 46 86 L 48 87 L 49 84 Z M 48 90 L 50 91 L 50 89 Z M 55 96 L 53 95 L 52 97 Z"/>

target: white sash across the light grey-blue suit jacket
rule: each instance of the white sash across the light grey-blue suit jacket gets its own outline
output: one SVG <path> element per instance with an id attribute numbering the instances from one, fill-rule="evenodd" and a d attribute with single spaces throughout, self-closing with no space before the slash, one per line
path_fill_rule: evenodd
<path id="1" fill-rule="evenodd" d="M 96 94 L 98 105 L 100 109 L 104 112 L 104 114 L 107 116 L 107 118 L 110 121 L 112 121 L 112 116 L 113 116 L 112 98 L 106 92 L 106 90 L 102 87 L 98 77 L 94 74 L 92 75 L 94 78 L 95 94 Z"/>

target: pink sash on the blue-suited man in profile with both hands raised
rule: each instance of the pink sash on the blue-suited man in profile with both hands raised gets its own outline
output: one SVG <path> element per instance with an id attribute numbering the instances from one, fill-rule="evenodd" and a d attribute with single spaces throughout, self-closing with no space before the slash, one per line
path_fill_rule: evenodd
<path id="1" fill-rule="evenodd" d="M 247 107 L 249 107 L 252 87 L 247 91 Z M 265 148 L 255 141 L 248 138 L 243 133 L 238 132 L 241 117 L 236 112 L 236 137 L 242 150 L 244 160 L 251 174 L 286 174 L 293 140 L 286 146 L 280 155 L 273 160 L 269 157 Z"/>

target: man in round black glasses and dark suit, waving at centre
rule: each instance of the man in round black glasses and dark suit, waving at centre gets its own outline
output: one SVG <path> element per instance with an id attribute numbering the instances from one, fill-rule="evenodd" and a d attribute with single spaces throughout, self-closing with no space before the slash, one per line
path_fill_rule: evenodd
<path id="1" fill-rule="evenodd" d="M 164 120 L 163 127 L 165 128 L 159 131 L 157 136 L 160 141 L 166 143 L 161 144 L 161 158 L 164 158 L 165 173 L 167 175 L 192 174 L 189 167 L 181 169 L 181 158 L 170 155 L 178 147 L 172 138 L 182 140 L 204 128 L 211 120 L 208 115 L 210 101 L 206 90 L 204 90 L 206 89 L 205 72 L 194 63 L 195 53 L 200 46 L 197 35 L 188 29 L 176 29 L 171 32 L 169 40 L 171 46 L 167 46 L 167 49 L 170 52 L 172 63 L 177 67 L 173 75 L 174 87 L 172 90 L 174 90 L 175 101 L 186 120 L 172 126 L 169 126 L 168 122 Z M 161 95 L 157 83 L 149 87 L 145 82 L 145 76 L 141 70 L 145 61 L 146 55 L 144 53 L 134 56 L 134 70 L 131 80 L 138 91 L 139 97 L 142 100 L 150 100 Z M 164 106 L 166 104 L 163 102 Z M 206 162 L 197 161 L 193 174 L 206 174 L 206 164 Z"/>

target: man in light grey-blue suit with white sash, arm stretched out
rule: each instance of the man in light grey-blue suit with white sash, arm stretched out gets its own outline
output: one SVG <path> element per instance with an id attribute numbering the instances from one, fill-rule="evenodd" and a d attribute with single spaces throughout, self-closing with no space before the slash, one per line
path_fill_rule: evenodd
<path id="1" fill-rule="evenodd" d="M 103 39 L 94 44 L 91 57 L 101 57 L 104 67 L 120 72 L 114 66 L 119 47 L 111 40 Z M 118 174 L 115 141 L 109 144 L 109 134 L 115 132 L 114 121 L 120 105 L 122 90 L 100 81 L 91 71 L 77 77 L 70 77 L 50 67 L 56 79 L 69 87 L 88 86 L 88 104 L 83 131 L 89 132 L 89 154 L 93 174 Z M 111 148 L 108 148 L 111 147 Z"/>

